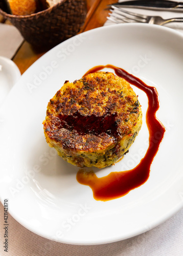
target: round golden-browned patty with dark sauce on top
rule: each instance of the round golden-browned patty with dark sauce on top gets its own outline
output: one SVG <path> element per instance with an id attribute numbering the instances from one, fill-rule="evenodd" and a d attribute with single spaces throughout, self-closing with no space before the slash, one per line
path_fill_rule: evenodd
<path id="1" fill-rule="evenodd" d="M 67 162 L 103 168 L 127 153 L 142 126 L 138 97 L 110 72 L 91 73 L 50 100 L 43 121 L 49 146 Z"/>

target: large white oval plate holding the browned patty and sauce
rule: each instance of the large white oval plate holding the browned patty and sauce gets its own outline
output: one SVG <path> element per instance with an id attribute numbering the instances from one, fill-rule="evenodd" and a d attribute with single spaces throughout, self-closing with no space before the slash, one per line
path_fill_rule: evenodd
<path id="1" fill-rule="evenodd" d="M 181 34 L 160 26 L 102 27 L 64 41 L 21 76 L 0 111 L 1 201 L 8 198 L 9 212 L 19 223 L 51 240 L 102 244 L 145 232 L 183 206 L 182 45 Z M 124 197 L 101 202 L 77 182 L 79 168 L 45 142 L 42 121 L 48 101 L 65 80 L 108 63 L 156 87 L 157 117 L 166 133 L 148 181 Z M 147 150 L 147 97 L 134 91 L 142 105 L 142 129 L 124 159 L 96 171 L 98 177 L 134 167 Z"/>

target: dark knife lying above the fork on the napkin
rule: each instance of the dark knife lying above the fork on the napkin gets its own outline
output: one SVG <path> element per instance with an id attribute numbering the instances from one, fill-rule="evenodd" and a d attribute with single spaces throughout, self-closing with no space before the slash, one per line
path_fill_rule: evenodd
<path id="1" fill-rule="evenodd" d="M 141 9 L 151 9 L 151 10 L 183 10 L 183 2 L 174 2 L 168 0 L 135 0 L 135 1 L 125 1 L 121 3 L 114 3 L 110 6 L 121 6 L 128 8 L 141 8 Z"/>

